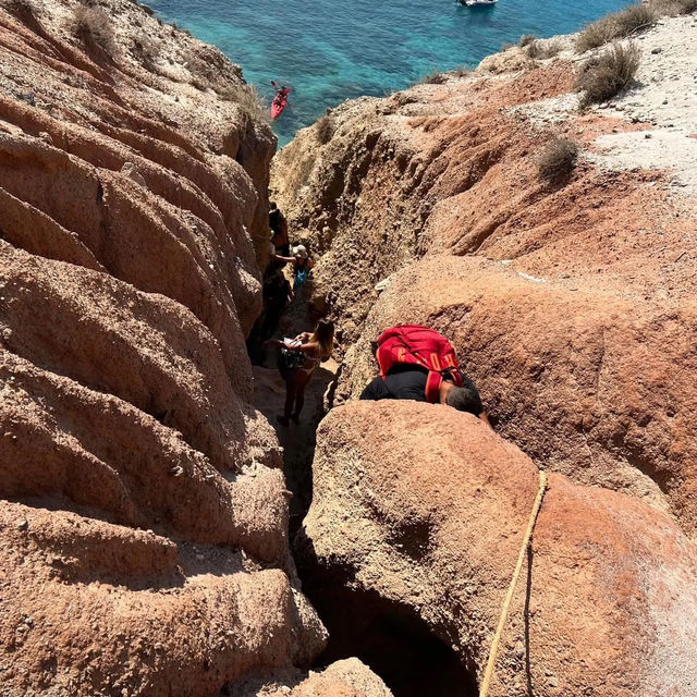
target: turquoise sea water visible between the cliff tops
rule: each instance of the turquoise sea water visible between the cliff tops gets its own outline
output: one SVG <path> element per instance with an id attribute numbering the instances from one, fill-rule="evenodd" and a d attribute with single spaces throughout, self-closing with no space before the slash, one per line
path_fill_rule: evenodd
<path id="1" fill-rule="evenodd" d="M 627 0 L 500 0 L 465 8 L 453 0 L 150 0 L 162 19 L 215 44 L 273 96 L 293 88 L 274 124 L 280 145 L 327 107 L 382 96 L 419 77 L 475 65 L 523 34 L 575 32 Z"/>

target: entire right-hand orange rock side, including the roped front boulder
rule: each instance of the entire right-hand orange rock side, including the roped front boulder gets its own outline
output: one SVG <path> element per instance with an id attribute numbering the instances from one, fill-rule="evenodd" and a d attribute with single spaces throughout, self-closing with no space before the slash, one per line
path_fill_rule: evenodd
<path id="1" fill-rule="evenodd" d="M 316 304 L 343 332 L 334 405 L 376 374 L 380 331 L 417 322 L 453 341 L 496 428 L 439 406 L 335 409 L 303 570 L 328 657 L 370 636 L 358 657 L 402 677 L 398 694 L 475 695 L 541 467 L 491 694 L 687 697 L 697 20 L 641 26 L 620 45 L 635 81 L 590 108 L 576 85 L 616 49 L 536 46 L 346 102 L 274 160 L 274 197 L 319 258 Z M 547 176 L 560 145 L 574 157 Z M 445 682 L 386 659 L 396 635 L 428 639 Z"/>

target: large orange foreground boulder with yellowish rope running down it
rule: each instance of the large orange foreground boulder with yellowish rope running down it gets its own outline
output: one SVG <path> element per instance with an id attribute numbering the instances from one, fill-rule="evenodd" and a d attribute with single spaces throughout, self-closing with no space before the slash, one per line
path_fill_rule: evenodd
<path id="1" fill-rule="evenodd" d="M 320 426 L 314 478 L 302 549 L 329 651 L 367 612 L 374 633 L 411 619 L 452 647 L 476 695 L 537 467 L 450 407 L 352 402 Z M 694 695 L 696 552 L 664 513 L 551 475 L 492 697 Z"/>

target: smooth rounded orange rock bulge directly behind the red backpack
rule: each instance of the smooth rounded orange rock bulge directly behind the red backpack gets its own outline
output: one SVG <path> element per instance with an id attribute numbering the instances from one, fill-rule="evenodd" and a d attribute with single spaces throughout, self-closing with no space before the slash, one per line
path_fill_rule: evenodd
<path id="1" fill-rule="evenodd" d="M 376 374 L 380 332 L 409 322 L 452 340 L 501 436 L 540 466 L 645 497 L 695 530 L 694 304 L 427 258 L 391 277 L 347 352 L 340 396 Z"/>

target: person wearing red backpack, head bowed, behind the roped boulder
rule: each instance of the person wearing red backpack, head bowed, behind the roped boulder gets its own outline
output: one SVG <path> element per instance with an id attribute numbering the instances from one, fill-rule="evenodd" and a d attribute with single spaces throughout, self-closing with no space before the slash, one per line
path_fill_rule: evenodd
<path id="1" fill-rule="evenodd" d="M 448 339 L 418 325 L 387 329 L 378 339 L 380 375 L 362 400 L 414 400 L 448 404 L 489 424 L 474 382 L 460 369 Z"/>

